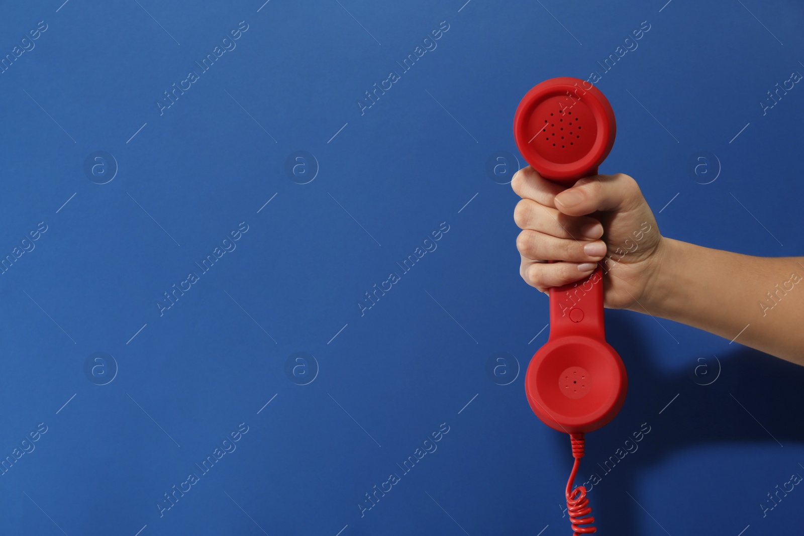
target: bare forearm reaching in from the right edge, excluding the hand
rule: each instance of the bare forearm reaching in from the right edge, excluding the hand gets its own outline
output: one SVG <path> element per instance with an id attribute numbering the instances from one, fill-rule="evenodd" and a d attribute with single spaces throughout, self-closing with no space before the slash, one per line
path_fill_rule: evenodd
<path id="1" fill-rule="evenodd" d="M 804 258 L 755 257 L 664 238 L 630 308 L 804 365 Z"/>

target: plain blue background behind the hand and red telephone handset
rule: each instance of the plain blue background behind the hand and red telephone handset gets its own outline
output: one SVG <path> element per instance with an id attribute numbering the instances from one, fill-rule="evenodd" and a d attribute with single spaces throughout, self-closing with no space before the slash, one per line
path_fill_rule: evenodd
<path id="1" fill-rule="evenodd" d="M 601 173 L 634 176 L 663 235 L 802 253 L 804 88 L 759 104 L 804 72 L 793 0 L 35 0 L 2 6 L 0 55 L 39 21 L 0 74 L 0 253 L 47 225 L 0 276 L 0 456 L 47 432 L 0 477 L 3 534 L 568 534 L 568 440 L 523 392 L 547 298 L 519 277 L 518 198 L 500 184 L 516 163 L 486 167 L 499 151 L 525 165 L 511 122 L 529 88 L 603 72 L 643 21 L 597 83 L 618 126 Z M 236 48 L 160 114 L 240 21 Z M 437 48 L 361 115 L 442 21 Z M 103 180 L 84 173 L 99 150 Z M 301 178 L 285 166 L 300 150 Z M 719 162 L 706 180 L 689 170 L 699 151 Z M 241 222 L 236 249 L 160 315 Z M 361 316 L 442 222 L 437 249 Z M 606 322 L 630 391 L 581 463 L 602 477 L 601 534 L 798 527 L 804 490 L 760 505 L 804 475 L 804 370 L 671 321 Z M 96 352 L 111 357 L 86 372 Z M 236 450 L 160 515 L 240 423 Z M 638 450 L 598 468 L 643 423 Z"/>

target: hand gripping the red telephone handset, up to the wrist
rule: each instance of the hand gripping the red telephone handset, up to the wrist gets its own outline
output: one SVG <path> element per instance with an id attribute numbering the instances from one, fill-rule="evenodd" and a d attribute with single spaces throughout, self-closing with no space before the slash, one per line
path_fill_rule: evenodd
<path id="1" fill-rule="evenodd" d="M 653 212 L 633 178 L 593 175 L 567 188 L 527 166 L 511 187 L 522 198 L 514 221 L 523 229 L 516 248 L 522 256 L 519 275 L 527 284 L 544 293 L 585 279 L 601 263 L 605 306 L 637 307 L 664 250 Z M 599 219 L 590 216 L 596 211 Z"/>

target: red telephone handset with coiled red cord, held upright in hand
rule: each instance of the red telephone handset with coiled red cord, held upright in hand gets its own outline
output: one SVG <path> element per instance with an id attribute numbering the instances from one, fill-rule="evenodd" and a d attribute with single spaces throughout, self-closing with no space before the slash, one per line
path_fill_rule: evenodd
<path id="1" fill-rule="evenodd" d="M 588 87 L 586 87 L 588 86 Z M 585 80 L 561 77 L 535 85 L 514 116 L 514 138 L 525 160 L 542 177 L 566 186 L 597 174 L 608 156 L 617 125 L 611 104 Z M 566 497 L 572 530 L 590 533 L 586 489 L 572 489 L 584 434 L 608 423 L 626 399 L 626 367 L 605 342 L 603 270 L 550 289 L 550 336 L 525 374 L 531 409 L 551 428 L 567 432 L 575 463 Z"/>

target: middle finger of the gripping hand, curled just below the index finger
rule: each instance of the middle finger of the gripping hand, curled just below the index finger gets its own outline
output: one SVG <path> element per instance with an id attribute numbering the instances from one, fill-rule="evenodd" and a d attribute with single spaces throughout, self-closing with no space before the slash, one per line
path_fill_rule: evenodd
<path id="1" fill-rule="evenodd" d="M 563 239 L 599 239 L 603 235 L 603 226 L 597 219 L 568 216 L 527 198 L 517 203 L 514 221 L 520 229 L 531 229 Z"/>

